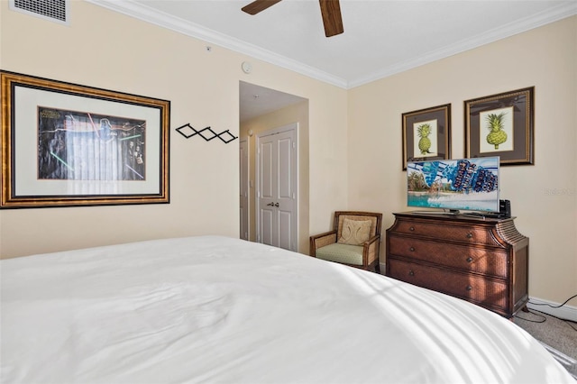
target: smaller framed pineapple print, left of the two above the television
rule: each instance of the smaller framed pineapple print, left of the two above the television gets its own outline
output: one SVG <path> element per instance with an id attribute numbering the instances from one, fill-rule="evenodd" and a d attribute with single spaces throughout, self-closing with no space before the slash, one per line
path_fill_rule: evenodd
<path id="1" fill-rule="evenodd" d="M 408 161 L 451 159 L 451 105 L 402 114 L 403 170 Z"/>

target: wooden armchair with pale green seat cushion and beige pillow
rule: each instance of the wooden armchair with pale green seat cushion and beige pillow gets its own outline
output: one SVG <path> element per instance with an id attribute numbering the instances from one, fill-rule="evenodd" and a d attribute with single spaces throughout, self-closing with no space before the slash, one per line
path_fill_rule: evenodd
<path id="1" fill-rule="evenodd" d="M 310 236 L 310 255 L 379 272 L 382 214 L 337 211 L 333 231 Z"/>

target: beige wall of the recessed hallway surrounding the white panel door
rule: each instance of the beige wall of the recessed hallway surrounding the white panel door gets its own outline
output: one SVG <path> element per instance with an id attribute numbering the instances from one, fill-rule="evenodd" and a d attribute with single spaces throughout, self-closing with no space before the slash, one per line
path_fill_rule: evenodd
<path id="1" fill-rule="evenodd" d="M 256 137 L 263 131 L 290 123 L 298 123 L 298 251 L 308 254 L 308 101 L 241 123 L 241 137 L 248 139 L 250 153 L 249 180 L 252 187 L 249 187 L 249 240 L 256 241 L 256 212 L 254 210 L 256 206 Z M 249 135 L 249 130 L 252 131 L 252 136 Z"/>

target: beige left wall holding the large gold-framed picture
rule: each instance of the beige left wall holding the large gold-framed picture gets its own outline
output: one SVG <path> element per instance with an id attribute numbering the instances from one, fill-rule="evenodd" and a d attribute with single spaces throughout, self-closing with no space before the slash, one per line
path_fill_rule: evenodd
<path id="1" fill-rule="evenodd" d="M 237 136 L 240 80 L 309 100 L 314 133 L 308 139 L 327 155 L 309 161 L 315 208 L 305 222 L 325 230 L 334 206 L 346 204 L 345 193 L 326 197 L 319 178 L 346 186 L 346 157 L 333 155 L 335 148 L 346 148 L 346 90 L 231 50 L 214 46 L 208 52 L 206 45 L 82 1 L 70 2 L 70 26 L 16 13 L 0 2 L 1 69 L 171 102 L 169 205 L 4 209 L 2 258 L 170 236 L 238 237 L 239 141 L 186 140 L 174 129 L 210 125 Z M 247 59 L 251 75 L 241 70 Z M 328 159 L 336 167 L 326 169 Z"/>

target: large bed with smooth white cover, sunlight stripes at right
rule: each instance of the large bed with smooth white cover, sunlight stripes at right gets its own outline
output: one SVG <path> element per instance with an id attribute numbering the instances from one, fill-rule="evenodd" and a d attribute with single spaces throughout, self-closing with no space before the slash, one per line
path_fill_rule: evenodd
<path id="1" fill-rule="evenodd" d="M 480 306 L 223 236 L 1 263 L 1 382 L 572 383 Z"/>

